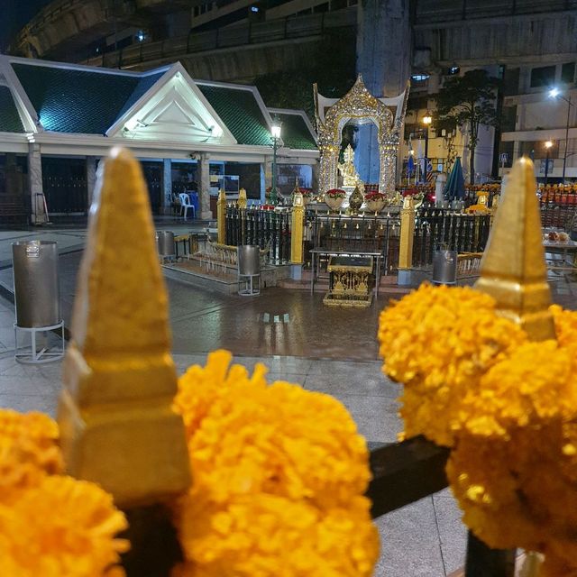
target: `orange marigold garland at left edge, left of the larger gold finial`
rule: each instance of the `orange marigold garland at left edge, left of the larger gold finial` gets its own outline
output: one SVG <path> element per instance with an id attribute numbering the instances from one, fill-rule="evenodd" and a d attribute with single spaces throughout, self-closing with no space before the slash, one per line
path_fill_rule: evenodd
<path id="1" fill-rule="evenodd" d="M 58 426 L 0 409 L 0 575 L 123 577 L 123 513 L 96 484 L 61 475 Z"/>

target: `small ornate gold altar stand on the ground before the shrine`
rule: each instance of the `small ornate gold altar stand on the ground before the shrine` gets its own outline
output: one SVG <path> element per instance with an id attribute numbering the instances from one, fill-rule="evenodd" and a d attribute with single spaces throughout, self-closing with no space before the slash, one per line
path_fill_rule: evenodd
<path id="1" fill-rule="evenodd" d="M 329 290 L 323 303 L 332 307 L 370 307 L 369 287 L 371 256 L 332 256 L 326 270 L 330 273 Z"/>

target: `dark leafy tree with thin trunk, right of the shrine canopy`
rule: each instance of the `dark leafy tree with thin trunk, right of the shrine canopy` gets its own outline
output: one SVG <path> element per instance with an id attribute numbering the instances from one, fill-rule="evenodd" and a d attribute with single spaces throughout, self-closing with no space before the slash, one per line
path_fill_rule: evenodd
<path id="1" fill-rule="evenodd" d="M 470 70 L 463 76 L 449 77 L 434 96 L 435 126 L 439 124 L 467 125 L 469 129 L 469 167 L 471 183 L 475 180 L 475 149 L 479 142 L 479 127 L 497 126 L 495 108 L 499 79 L 488 76 L 485 70 Z"/>

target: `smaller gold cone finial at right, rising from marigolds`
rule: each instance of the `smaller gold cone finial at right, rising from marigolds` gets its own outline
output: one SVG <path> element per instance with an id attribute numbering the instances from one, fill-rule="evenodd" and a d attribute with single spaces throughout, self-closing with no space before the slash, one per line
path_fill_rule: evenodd
<path id="1" fill-rule="evenodd" d="M 555 338 L 542 239 L 533 162 L 522 158 L 508 176 L 475 288 L 534 341 Z"/>

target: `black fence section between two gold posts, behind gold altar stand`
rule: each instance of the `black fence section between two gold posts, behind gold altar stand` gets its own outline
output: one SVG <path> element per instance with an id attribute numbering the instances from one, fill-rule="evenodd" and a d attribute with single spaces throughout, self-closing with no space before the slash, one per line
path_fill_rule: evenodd
<path id="1" fill-rule="evenodd" d="M 398 269 L 398 216 L 314 215 L 308 222 L 314 249 L 339 252 L 380 252 L 388 274 Z"/>

